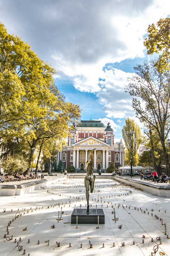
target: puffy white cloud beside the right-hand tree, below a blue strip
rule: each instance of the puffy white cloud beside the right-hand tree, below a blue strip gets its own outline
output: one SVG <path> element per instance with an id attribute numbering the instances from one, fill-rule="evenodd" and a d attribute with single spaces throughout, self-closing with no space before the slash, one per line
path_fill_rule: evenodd
<path id="1" fill-rule="evenodd" d="M 127 77 L 132 73 L 127 73 L 117 68 L 103 71 L 100 81 L 101 87 L 97 92 L 100 104 L 108 118 L 135 117 L 132 108 L 132 97 L 124 92 L 124 86 L 128 84 Z"/>

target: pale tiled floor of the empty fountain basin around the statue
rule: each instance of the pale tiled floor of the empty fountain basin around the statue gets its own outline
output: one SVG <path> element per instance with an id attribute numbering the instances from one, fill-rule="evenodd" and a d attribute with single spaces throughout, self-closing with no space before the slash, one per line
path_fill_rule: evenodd
<path id="1" fill-rule="evenodd" d="M 90 256 L 105 253 L 149 256 L 152 255 L 151 252 L 155 255 L 153 251 L 155 245 L 158 245 L 155 247 L 158 249 L 156 254 L 170 255 L 170 240 L 166 238 L 167 235 L 170 236 L 169 203 L 170 198 L 154 196 L 114 180 L 97 179 L 95 192 L 90 194 L 90 204 L 92 208 L 96 208 L 96 205 L 97 208 L 103 208 L 105 224 L 100 224 L 99 228 L 96 224 L 78 224 L 76 228 L 76 224 L 71 224 L 71 213 L 74 208 L 79 208 L 80 204 L 85 208 L 84 179 L 66 179 L 22 196 L 2 196 L 0 197 L 0 255 L 18 256 L 26 250 L 25 254 L 30 256 L 66 254 L 75 256 L 76 253 Z M 63 220 L 57 222 L 61 206 Z M 118 218 L 116 222 L 113 220 L 114 208 Z M 19 214 L 21 216 L 18 216 Z M 16 220 L 15 216 L 18 216 Z M 7 225 L 10 220 L 7 235 Z M 53 225 L 55 228 L 51 227 Z M 118 225 L 122 225 L 122 228 Z M 13 236 L 13 239 L 7 241 L 4 234 L 9 238 Z M 21 241 L 19 241 L 20 237 Z M 161 241 L 157 240 L 159 237 Z M 15 239 L 19 243 L 18 246 L 23 246 L 23 250 L 18 250 Z M 49 245 L 45 242 L 48 240 Z M 89 246 L 89 241 L 92 243 L 92 248 Z M 56 242 L 60 243 L 60 247 L 57 247 Z M 123 243 L 125 246 L 122 246 Z"/>

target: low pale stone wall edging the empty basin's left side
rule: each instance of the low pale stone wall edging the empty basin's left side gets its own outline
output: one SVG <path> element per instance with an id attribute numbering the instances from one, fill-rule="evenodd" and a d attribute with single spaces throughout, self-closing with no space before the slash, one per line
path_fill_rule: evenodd
<path id="1" fill-rule="evenodd" d="M 66 177 L 63 175 L 63 177 L 51 177 L 49 179 L 42 179 L 42 180 L 30 180 L 23 184 L 16 184 L 16 185 L 0 185 L 0 196 L 19 196 L 26 193 L 29 193 L 35 189 L 43 188 L 45 186 L 48 186 L 52 183 L 55 183 L 57 181 L 65 180 Z"/>

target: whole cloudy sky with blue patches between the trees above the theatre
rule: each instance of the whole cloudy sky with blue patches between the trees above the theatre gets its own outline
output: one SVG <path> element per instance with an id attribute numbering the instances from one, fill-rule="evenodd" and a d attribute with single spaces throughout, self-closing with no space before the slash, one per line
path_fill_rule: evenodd
<path id="1" fill-rule="evenodd" d="M 142 127 L 124 92 L 127 77 L 148 60 L 148 25 L 169 10 L 168 0 L 1 0 L 0 21 L 57 70 L 55 84 L 80 105 L 82 120 L 109 121 L 120 141 L 126 117 Z"/>

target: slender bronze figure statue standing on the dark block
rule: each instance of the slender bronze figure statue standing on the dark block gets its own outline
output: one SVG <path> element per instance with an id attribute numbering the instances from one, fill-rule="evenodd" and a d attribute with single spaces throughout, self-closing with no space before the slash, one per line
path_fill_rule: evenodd
<path id="1" fill-rule="evenodd" d="M 93 165 L 93 153 L 94 153 L 94 150 L 96 148 L 94 148 L 92 150 L 92 154 L 89 158 L 89 160 L 86 162 L 87 164 L 87 175 L 85 176 L 85 195 L 86 195 L 86 200 L 87 200 L 87 212 L 89 212 L 89 190 L 90 190 L 90 193 L 93 192 L 94 190 L 94 181 L 95 181 L 95 178 L 96 176 L 93 175 L 93 169 L 94 169 L 94 165 Z"/>

